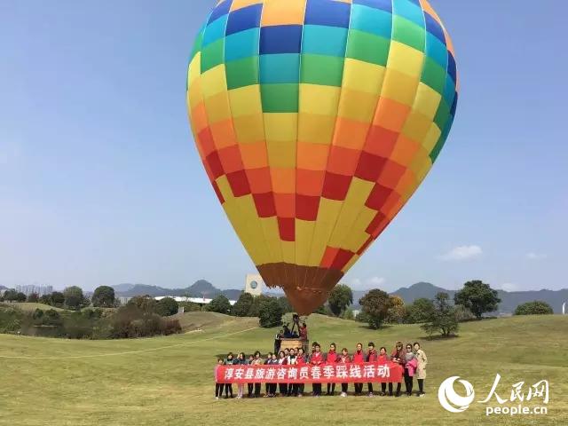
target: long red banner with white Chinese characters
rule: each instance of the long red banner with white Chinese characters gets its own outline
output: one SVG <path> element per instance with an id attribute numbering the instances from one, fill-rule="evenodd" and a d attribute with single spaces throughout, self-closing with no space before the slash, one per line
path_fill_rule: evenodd
<path id="1" fill-rule="evenodd" d="M 402 382 L 394 362 L 336 363 L 312 366 L 217 366 L 217 383 L 383 383 Z"/>

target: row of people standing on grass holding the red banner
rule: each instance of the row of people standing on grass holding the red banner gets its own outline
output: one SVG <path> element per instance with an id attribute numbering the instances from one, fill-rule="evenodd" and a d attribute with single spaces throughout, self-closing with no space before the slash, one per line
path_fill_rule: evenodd
<path id="1" fill-rule="evenodd" d="M 388 361 L 400 365 L 404 370 L 405 390 L 408 397 L 412 396 L 414 389 L 414 377 L 418 382 L 418 391 L 416 396 L 424 396 L 424 379 L 426 378 L 426 366 L 428 359 L 426 353 L 422 350 L 420 343 L 414 344 L 397 342 L 394 349 L 387 353 L 387 349 L 382 346 L 377 351 L 375 343 L 369 342 L 367 344 L 367 351 L 363 351 L 363 344 L 357 343 L 356 349 L 351 355 L 347 348 L 343 348 L 341 352 L 336 351 L 335 343 L 329 345 L 327 353 L 321 351 L 319 343 L 312 344 L 312 353 L 307 354 L 304 348 L 285 349 L 283 351 L 268 352 L 267 356 L 263 358 L 260 351 L 256 351 L 254 355 L 247 356 L 244 352 L 240 352 L 236 357 L 233 352 L 229 352 L 225 359 L 217 359 L 217 366 L 223 365 L 312 365 L 319 366 L 331 363 L 362 363 L 362 362 L 378 362 L 386 363 Z M 259 398 L 261 396 L 261 383 L 246 383 L 248 390 L 248 398 Z M 396 389 L 393 389 L 393 384 L 396 384 Z M 364 383 L 353 383 L 354 395 L 362 395 Z M 244 397 L 245 383 L 237 384 L 237 397 Z M 217 383 L 215 389 L 215 398 L 223 397 L 225 390 L 225 398 L 233 398 L 233 384 L 232 383 Z M 346 397 L 349 390 L 349 383 L 341 383 L 340 396 Z M 312 395 L 314 397 L 321 396 L 322 383 L 312 383 Z M 265 398 L 274 398 L 277 395 L 281 397 L 302 397 L 304 396 L 304 383 L 265 383 Z M 335 383 L 327 383 L 327 395 L 335 395 Z M 369 397 L 375 396 L 373 383 L 367 383 L 367 395 Z M 401 383 L 381 383 L 381 390 L 378 395 L 380 396 L 395 396 L 401 395 Z"/>

